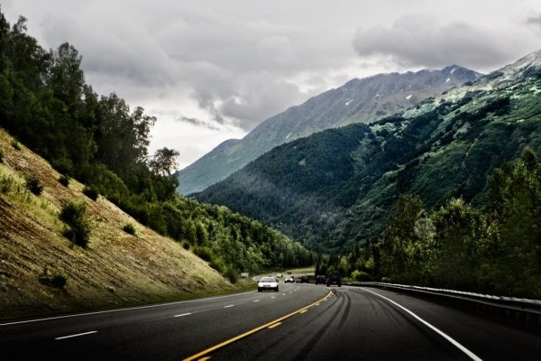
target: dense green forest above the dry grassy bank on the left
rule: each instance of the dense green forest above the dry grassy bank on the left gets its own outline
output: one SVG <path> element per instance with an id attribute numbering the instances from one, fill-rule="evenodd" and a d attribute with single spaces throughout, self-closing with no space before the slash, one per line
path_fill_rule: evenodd
<path id="1" fill-rule="evenodd" d="M 23 17 L 11 26 L 0 14 L 0 126 L 19 142 L 232 281 L 243 271 L 313 263 L 312 253 L 261 222 L 179 197 L 178 153 L 148 153 L 157 119 L 115 93 L 98 96 L 75 47 L 46 51 L 26 31 Z"/>

